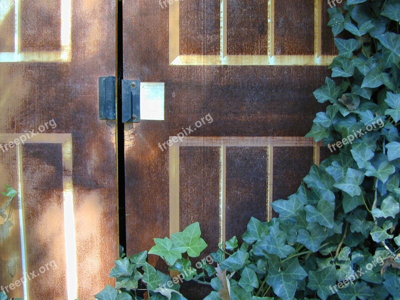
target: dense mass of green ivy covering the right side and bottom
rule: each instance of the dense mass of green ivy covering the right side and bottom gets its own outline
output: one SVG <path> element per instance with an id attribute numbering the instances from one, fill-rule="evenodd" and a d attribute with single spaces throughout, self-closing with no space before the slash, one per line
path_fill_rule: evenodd
<path id="1" fill-rule="evenodd" d="M 142 299 L 140 289 L 150 300 L 186 299 L 148 254 L 184 280 L 210 284 L 204 300 L 400 299 L 400 1 L 347 0 L 329 15 L 334 36 L 353 37 L 334 39 L 334 80 L 314 92 L 328 105 L 307 136 L 336 153 L 272 203 L 279 217 L 251 218 L 240 245 L 236 237 L 219 245 L 213 266 L 197 270 L 188 259 L 206 246 L 194 223 L 155 238 L 148 253 L 119 258 L 115 288 L 97 299 Z"/>

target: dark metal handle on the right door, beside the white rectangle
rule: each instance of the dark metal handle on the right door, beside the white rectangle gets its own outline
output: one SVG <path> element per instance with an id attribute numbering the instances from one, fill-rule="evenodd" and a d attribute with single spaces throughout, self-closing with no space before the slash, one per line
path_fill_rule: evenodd
<path id="1" fill-rule="evenodd" d="M 122 122 L 140 121 L 140 81 L 122 80 Z"/>

